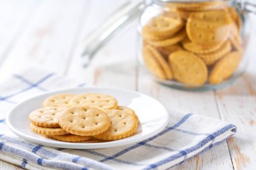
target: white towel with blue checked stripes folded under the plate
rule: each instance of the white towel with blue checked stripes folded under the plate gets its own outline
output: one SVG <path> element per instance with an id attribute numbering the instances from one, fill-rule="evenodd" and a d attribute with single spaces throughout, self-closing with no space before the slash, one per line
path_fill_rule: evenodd
<path id="1" fill-rule="evenodd" d="M 28 97 L 84 83 L 30 69 L 0 85 L 0 159 L 26 169 L 168 169 L 220 144 L 236 126 L 214 118 L 170 110 L 168 126 L 156 136 L 116 148 L 75 150 L 32 144 L 12 134 L 5 116 Z"/>

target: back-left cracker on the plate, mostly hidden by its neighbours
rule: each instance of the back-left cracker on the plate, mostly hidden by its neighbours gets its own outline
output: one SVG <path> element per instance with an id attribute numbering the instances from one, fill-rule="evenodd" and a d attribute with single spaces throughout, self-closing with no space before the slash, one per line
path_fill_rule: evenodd
<path id="1" fill-rule="evenodd" d="M 69 101 L 74 94 L 58 94 L 53 95 L 44 100 L 44 107 L 69 107 Z"/>

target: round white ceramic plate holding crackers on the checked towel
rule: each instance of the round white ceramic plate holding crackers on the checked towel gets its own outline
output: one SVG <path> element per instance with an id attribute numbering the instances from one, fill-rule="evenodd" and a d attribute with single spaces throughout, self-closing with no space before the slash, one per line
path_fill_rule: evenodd
<path id="1" fill-rule="evenodd" d="M 28 115 L 33 110 L 42 108 L 42 102 L 44 99 L 51 95 L 58 93 L 107 93 L 113 95 L 119 105 L 125 105 L 133 109 L 137 116 L 139 117 L 139 127 L 137 132 L 128 138 L 121 140 L 109 141 L 109 142 L 61 142 L 57 140 L 52 140 L 49 138 L 44 138 L 30 129 L 30 120 Z M 123 89 L 107 89 L 100 87 L 83 87 L 75 89 L 65 89 L 60 91 L 52 91 L 49 93 L 44 93 L 36 97 L 32 97 L 22 103 L 16 105 L 11 112 L 7 115 L 7 126 L 16 135 L 36 144 L 42 144 L 44 146 L 54 146 L 59 148 L 109 148 L 115 146 L 122 146 L 126 144 L 132 144 L 150 138 L 155 134 L 158 134 L 164 129 L 168 123 L 168 112 L 164 105 L 141 93 L 135 91 L 127 91 Z"/>

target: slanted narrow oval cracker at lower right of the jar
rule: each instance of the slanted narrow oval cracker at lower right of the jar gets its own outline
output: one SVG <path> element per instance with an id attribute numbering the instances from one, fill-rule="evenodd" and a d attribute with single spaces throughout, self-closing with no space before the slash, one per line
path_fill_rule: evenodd
<path id="1" fill-rule="evenodd" d="M 228 79 L 238 67 L 241 56 L 241 52 L 230 52 L 219 60 L 210 73 L 209 82 L 211 84 L 218 84 Z"/>

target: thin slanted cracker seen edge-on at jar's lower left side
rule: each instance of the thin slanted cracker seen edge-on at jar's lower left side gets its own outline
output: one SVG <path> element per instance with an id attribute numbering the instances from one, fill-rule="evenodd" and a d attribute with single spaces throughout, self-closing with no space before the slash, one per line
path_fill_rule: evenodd
<path id="1" fill-rule="evenodd" d="M 152 46 L 146 45 L 144 46 L 144 48 L 145 50 L 148 50 L 148 53 L 151 55 L 151 57 L 156 58 L 158 64 L 164 71 L 164 75 L 166 79 L 172 79 L 172 71 L 170 71 L 170 67 L 168 66 L 168 63 L 166 62 L 166 60 L 164 60 L 164 57 L 160 54 L 160 52 L 158 52 L 158 50 L 156 50 L 156 48 Z"/>

